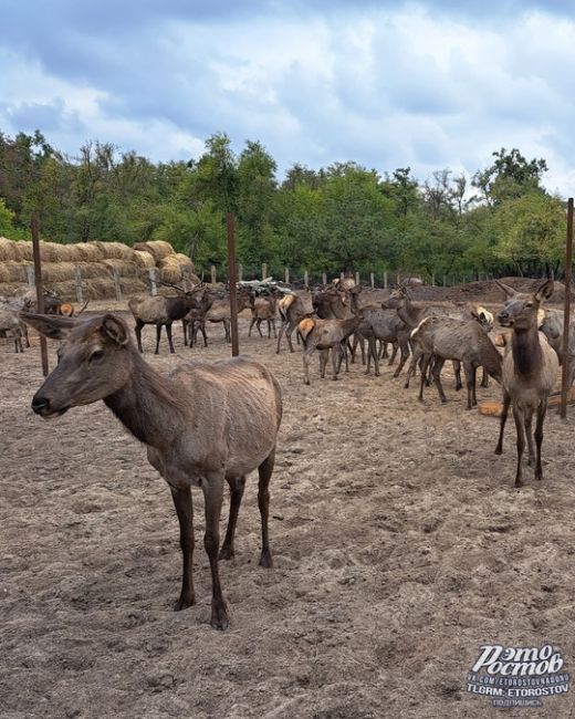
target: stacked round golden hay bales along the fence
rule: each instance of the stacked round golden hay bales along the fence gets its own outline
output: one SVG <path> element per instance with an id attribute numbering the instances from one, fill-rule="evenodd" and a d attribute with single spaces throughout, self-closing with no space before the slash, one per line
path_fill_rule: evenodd
<path id="1" fill-rule="evenodd" d="M 77 272 L 90 300 L 114 299 L 116 280 L 124 295 L 147 293 L 154 269 L 160 282 L 199 281 L 191 260 L 164 241 L 139 242 L 134 249 L 122 242 L 41 242 L 40 256 L 44 284 L 64 301 L 76 300 Z M 28 285 L 29 268 L 33 268 L 32 242 L 0 238 L 0 294 L 10 296 Z"/>

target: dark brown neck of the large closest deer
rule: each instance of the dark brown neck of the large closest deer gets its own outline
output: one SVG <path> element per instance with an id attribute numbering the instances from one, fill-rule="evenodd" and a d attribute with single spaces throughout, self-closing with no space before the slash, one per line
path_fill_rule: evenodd
<path id="1" fill-rule="evenodd" d="M 137 353 L 130 353 L 129 381 L 104 403 L 139 441 L 165 448 L 175 436 L 181 409 L 172 384 L 150 367 Z"/>

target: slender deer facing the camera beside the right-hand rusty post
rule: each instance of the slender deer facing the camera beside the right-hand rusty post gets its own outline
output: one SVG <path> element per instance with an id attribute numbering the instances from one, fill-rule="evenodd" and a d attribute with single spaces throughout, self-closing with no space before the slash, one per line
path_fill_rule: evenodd
<path id="1" fill-rule="evenodd" d="M 560 363 L 557 354 L 546 337 L 539 332 L 537 311 L 541 302 L 553 294 L 553 280 L 546 280 L 534 294 L 515 292 L 513 288 L 498 280 L 495 282 L 508 298 L 498 314 L 499 323 L 512 329 L 511 352 L 508 352 L 503 359 L 503 410 L 495 454 L 501 455 L 503 451 L 503 431 L 511 405 L 518 434 L 515 487 L 521 487 L 523 484 L 521 459 L 525 449 L 525 437 L 529 465 L 535 463 L 535 479 L 543 478 L 541 463 L 543 423 Z M 532 436 L 533 414 L 536 414 L 535 447 Z"/>

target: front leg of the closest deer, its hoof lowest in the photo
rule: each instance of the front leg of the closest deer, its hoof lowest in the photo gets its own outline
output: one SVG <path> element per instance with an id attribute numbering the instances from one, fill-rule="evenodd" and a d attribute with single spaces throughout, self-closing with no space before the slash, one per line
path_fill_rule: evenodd
<path id="1" fill-rule="evenodd" d="M 215 629 L 227 629 L 230 626 L 226 601 L 221 592 L 220 573 L 218 570 L 218 553 L 220 549 L 220 514 L 223 496 L 223 477 L 212 475 L 201 482 L 206 502 L 206 534 L 203 546 L 210 561 L 211 570 L 211 626 Z"/>

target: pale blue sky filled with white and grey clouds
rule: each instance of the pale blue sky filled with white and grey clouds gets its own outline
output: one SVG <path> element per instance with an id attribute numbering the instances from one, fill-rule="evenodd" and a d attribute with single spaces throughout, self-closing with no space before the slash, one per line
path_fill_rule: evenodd
<path id="1" fill-rule="evenodd" d="M 0 132 L 154 161 L 227 133 L 279 165 L 356 160 L 419 179 L 491 153 L 575 191 L 571 0 L 0 0 Z"/>

